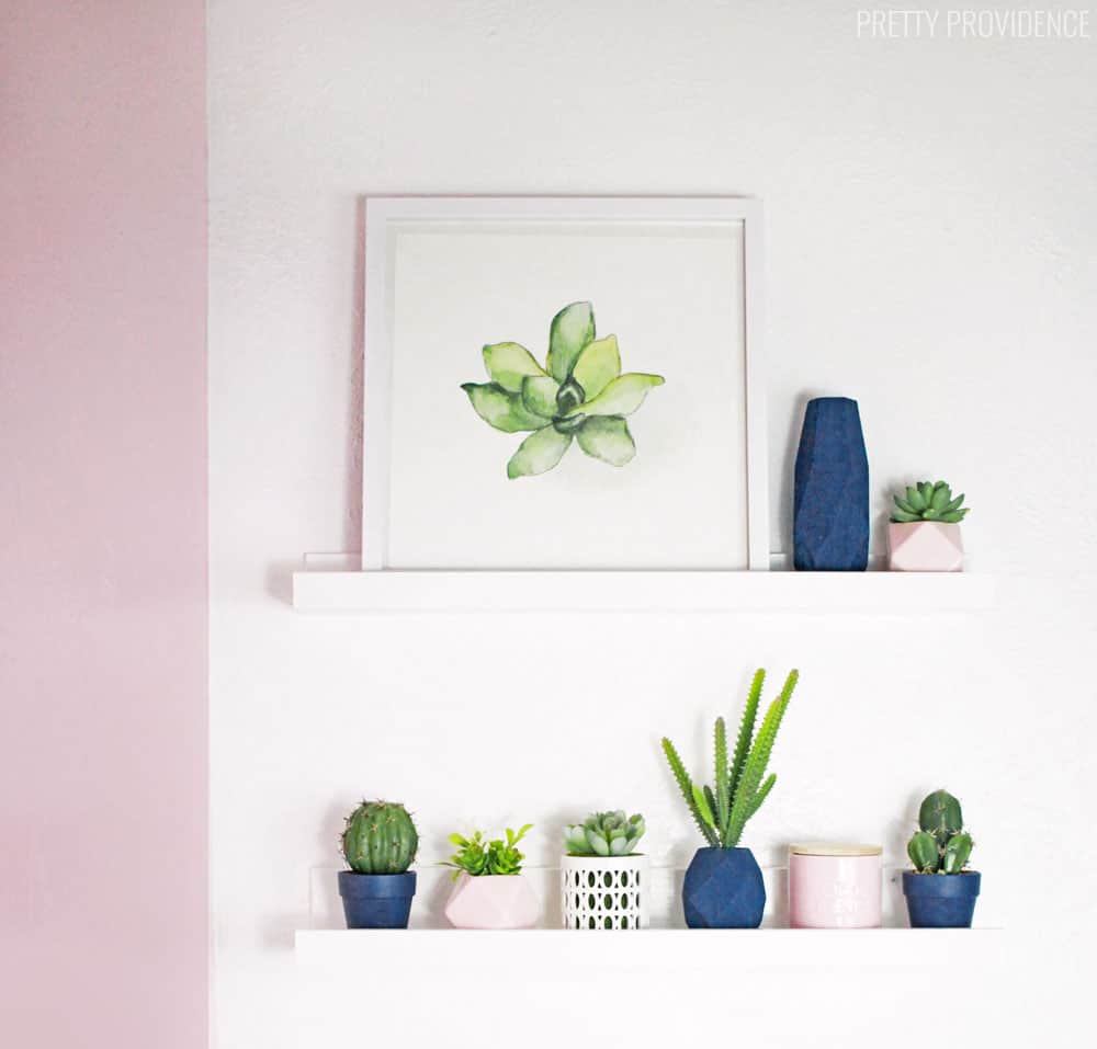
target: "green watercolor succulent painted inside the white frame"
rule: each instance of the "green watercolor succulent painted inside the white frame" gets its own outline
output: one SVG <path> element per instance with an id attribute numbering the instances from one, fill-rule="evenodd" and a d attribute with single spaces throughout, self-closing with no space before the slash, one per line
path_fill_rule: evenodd
<path id="1" fill-rule="evenodd" d="M 630 463 L 636 444 L 624 417 L 664 381 L 661 375 L 621 374 L 617 335 L 596 338 L 590 303 L 572 303 L 552 319 L 544 367 L 517 342 L 485 346 L 484 365 L 490 383 L 461 387 L 476 414 L 504 433 L 530 432 L 507 464 L 511 480 L 547 472 L 573 440 L 610 466 Z"/>

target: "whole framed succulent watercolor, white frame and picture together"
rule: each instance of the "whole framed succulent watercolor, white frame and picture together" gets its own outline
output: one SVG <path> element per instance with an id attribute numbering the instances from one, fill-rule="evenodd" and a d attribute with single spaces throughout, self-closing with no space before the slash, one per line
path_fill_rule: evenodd
<path id="1" fill-rule="evenodd" d="M 769 567 L 757 201 L 365 215 L 363 569 Z"/>

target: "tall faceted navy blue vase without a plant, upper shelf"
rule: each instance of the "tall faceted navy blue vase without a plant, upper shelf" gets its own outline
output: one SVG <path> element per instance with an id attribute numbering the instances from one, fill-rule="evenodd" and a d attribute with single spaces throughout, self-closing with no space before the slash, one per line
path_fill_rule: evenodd
<path id="1" fill-rule="evenodd" d="M 869 565 L 869 457 L 857 401 L 807 402 L 796 452 L 793 563 L 801 572 L 863 572 Z"/>

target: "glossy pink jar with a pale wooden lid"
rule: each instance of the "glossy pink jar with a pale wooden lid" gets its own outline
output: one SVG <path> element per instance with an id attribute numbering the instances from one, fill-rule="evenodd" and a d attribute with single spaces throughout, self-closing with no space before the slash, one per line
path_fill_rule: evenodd
<path id="1" fill-rule="evenodd" d="M 793 928 L 879 928 L 880 845 L 805 842 L 789 846 Z"/>

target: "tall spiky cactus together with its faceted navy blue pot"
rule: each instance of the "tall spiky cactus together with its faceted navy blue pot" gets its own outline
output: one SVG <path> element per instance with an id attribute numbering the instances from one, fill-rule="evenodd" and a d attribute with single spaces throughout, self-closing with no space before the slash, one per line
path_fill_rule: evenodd
<path id="1" fill-rule="evenodd" d="M 766 776 L 766 766 L 799 676 L 798 671 L 789 674 L 756 734 L 766 672 L 755 674 L 731 757 L 724 719 L 716 718 L 714 787 L 693 783 L 674 744 L 663 740 L 670 771 L 706 843 L 694 853 L 682 887 L 686 924 L 690 928 L 757 928 L 761 924 L 766 886 L 754 853 L 740 847 L 739 840 L 747 820 L 777 783 L 776 775 Z"/>

